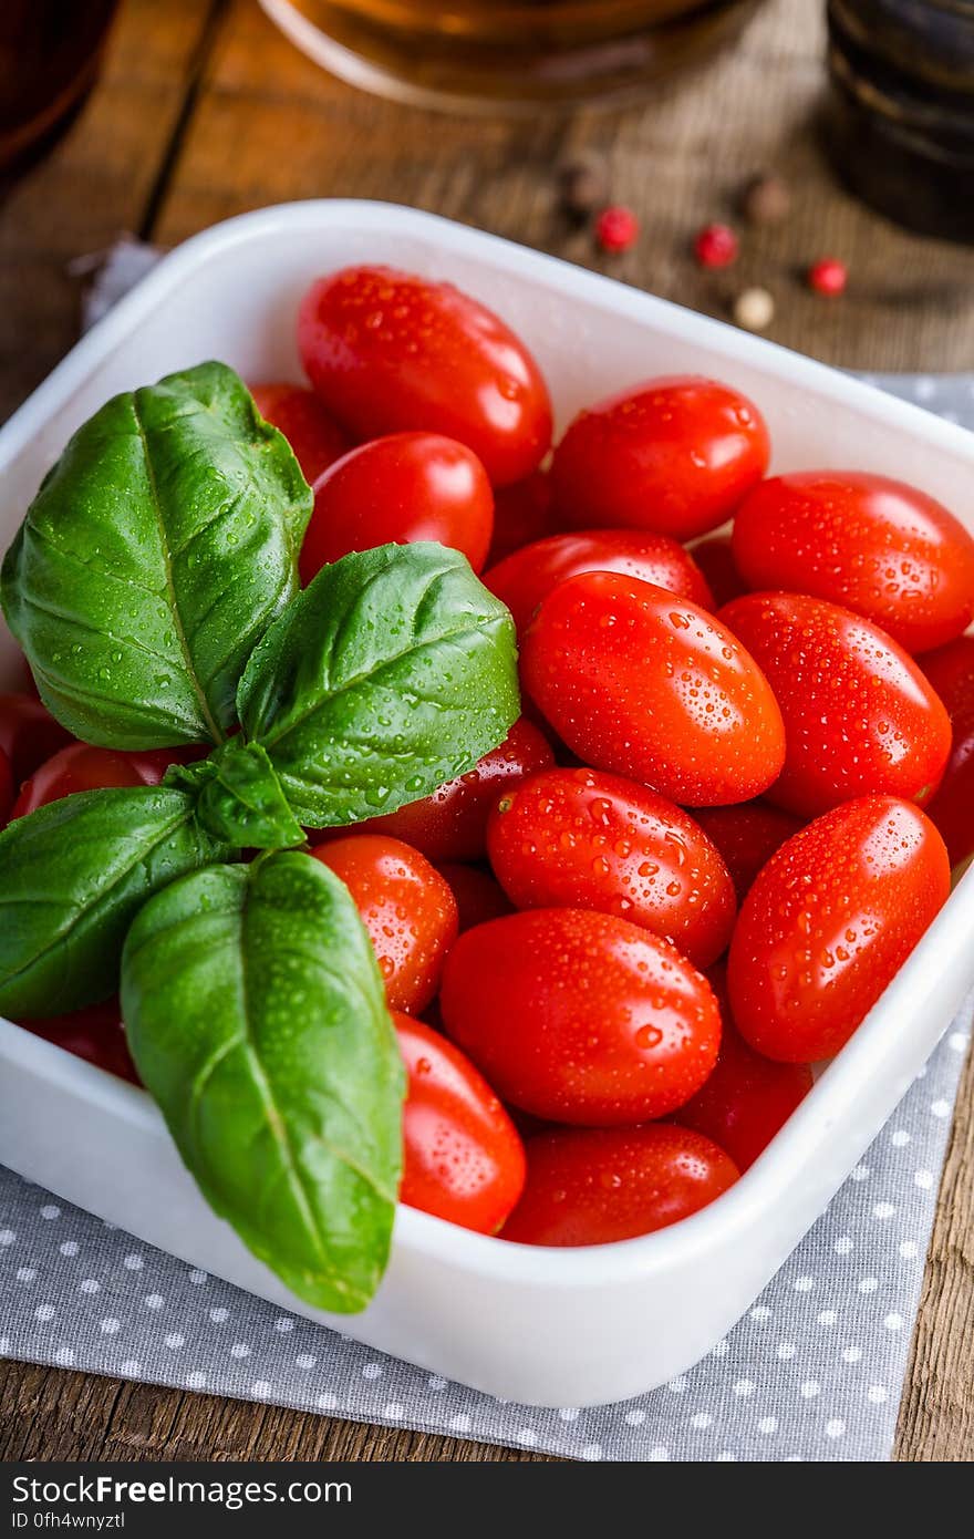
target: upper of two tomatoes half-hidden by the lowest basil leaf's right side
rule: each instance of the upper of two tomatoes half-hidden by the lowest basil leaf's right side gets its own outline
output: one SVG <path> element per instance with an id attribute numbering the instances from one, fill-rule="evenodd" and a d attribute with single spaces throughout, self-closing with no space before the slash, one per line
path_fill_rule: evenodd
<path id="1" fill-rule="evenodd" d="M 391 1010 L 423 1010 L 457 937 L 457 903 L 439 871 L 399 839 L 348 834 L 311 851 L 352 894 Z"/>

